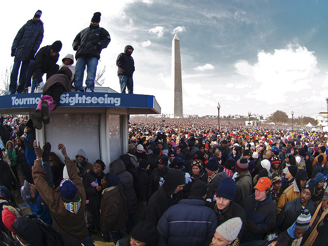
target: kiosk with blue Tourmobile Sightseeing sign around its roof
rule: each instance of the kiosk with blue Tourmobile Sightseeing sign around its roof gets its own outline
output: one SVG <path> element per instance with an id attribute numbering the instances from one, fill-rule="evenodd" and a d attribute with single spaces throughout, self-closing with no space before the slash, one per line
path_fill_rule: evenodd
<path id="1" fill-rule="evenodd" d="M 29 115 L 34 119 L 41 93 L 0 96 L 0 112 Z M 71 159 L 83 149 L 89 162 L 96 159 L 109 163 L 128 151 L 128 118 L 130 114 L 160 114 L 155 96 L 120 94 L 110 88 L 96 87 L 95 92 L 65 92 L 56 110 L 50 112 L 50 123 L 35 130 L 42 146 L 49 141 L 51 151 L 64 144 Z M 106 170 L 109 172 L 109 170 Z"/>

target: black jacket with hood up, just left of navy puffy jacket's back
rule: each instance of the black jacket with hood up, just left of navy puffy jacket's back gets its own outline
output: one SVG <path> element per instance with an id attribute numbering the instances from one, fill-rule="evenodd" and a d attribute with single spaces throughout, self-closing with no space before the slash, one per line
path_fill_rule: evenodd
<path id="1" fill-rule="evenodd" d="M 184 185 L 185 182 L 185 173 L 177 169 L 171 170 L 166 175 L 162 187 L 149 199 L 145 211 L 145 220 L 157 226 L 157 222 L 163 213 L 182 198 L 182 191 L 177 194 L 173 194 L 173 192 L 178 186 Z"/>

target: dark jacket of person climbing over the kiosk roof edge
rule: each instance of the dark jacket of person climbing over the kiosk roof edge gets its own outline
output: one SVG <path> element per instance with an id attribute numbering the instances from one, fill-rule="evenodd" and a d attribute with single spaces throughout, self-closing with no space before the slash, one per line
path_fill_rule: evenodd
<path id="1" fill-rule="evenodd" d="M 42 88 L 42 94 L 46 95 L 49 88 L 55 84 L 62 85 L 64 87 L 63 91 L 70 92 L 72 90 L 72 75 L 73 73 L 68 67 L 62 67 L 57 74 L 54 74 L 47 79 L 45 86 Z"/>

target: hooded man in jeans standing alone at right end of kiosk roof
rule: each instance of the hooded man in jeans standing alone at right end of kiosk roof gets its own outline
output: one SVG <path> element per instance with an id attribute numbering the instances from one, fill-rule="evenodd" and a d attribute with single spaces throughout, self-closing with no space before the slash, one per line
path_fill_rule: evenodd
<path id="1" fill-rule="evenodd" d="M 131 56 L 133 47 L 127 45 L 124 49 L 124 53 L 120 53 L 116 60 L 116 66 L 118 67 L 117 75 L 119 78 L 119 84 L 121 87 L 121 93 L 125 94 L 125 89 L 128 87 L 128 93 L 133 94 L 133 72 L 134 60 Z"/>

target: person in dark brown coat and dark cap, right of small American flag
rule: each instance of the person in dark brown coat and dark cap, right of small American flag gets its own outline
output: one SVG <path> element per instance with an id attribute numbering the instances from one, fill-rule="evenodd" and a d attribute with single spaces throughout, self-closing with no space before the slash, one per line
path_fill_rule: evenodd
<path id="1" fill-rule="evenodd" d="M 119 177 L 113 173 L 107 173 L 101 179 L 104 190 L 101 192 L 100 228 L 105 235 L 109 233 L 115 244 L 122 238 L 120 230 L 124 229 L 129 217 L 126 198 L 119 191 L 118 184 Z"/>

